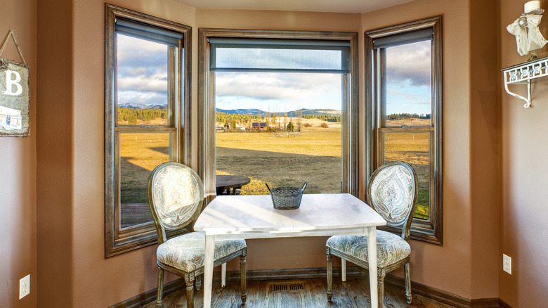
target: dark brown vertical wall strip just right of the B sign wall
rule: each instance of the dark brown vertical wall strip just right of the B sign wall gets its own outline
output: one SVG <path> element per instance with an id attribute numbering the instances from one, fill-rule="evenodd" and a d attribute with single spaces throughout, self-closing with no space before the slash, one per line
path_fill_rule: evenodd
<path id="1" fill-rule="evenodd" d="M 37 263 L 40 307 L 73 307 L 73 239 L 76 236 L 72 232 L 75 211 L 72 202 L 71 11 L 70 0 L 38 1 Z"/>

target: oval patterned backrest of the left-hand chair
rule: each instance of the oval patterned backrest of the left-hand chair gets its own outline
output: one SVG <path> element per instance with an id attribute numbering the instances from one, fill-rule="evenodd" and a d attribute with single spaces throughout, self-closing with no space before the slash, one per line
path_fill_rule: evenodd
<path id="1" fill-rule="evenodd" d="M 193 169 L 178 162 L 157 166 L 148 180 L 148 201 L 156 224 L 176 230 L 200 214 L 204 185 Z"/>

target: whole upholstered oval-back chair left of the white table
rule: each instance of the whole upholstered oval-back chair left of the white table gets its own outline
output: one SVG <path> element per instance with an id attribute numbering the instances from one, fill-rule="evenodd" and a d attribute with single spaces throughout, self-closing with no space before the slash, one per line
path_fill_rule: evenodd
<path id="1" fill-rule="evenodd" d="M 162 307 L 164 271 L 182 276 L 186 283 L 188 308 L 194 307 L 194 283 L 204 273 L 205 233 L 193 232 L 194 222 L 202 210 L 204 186 L 193 169 L 178 162 L 164 162 L 156 167 L 148 179 L 148 203 L 156 224 L 159 246 L 156 250 L 158 264 L 158 293 L 156 306 Z M 190 233 L 167 238 L 166 231 L 190 229 Z M 245 240 L 215 242 L 214 266 L 223 265 L 221 286 L 226 277 L 225 263 L 240 257 L 242 302 L 247 297 L 245 281 Z"/>

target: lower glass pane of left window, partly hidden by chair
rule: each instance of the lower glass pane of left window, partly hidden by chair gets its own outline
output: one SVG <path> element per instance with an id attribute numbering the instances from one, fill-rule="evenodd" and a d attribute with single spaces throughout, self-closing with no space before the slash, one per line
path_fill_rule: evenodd
<path id="1" fill-rule="evenodd" d="M 120 226 L 152 222 L 148 207 L 148 177 L 171 160 L 170 133 L 120 134 Z"/>

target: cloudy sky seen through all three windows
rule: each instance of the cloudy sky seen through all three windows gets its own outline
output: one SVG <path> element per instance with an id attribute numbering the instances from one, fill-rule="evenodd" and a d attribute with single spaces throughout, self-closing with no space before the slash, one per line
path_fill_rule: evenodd
<path id="1" fill-rule="evenodd" d="M 117 34 L 118 103 L 166 105 L 167 46 Z M 430 113 L 429 41 L 389 47 L 387 113 Z M 341 75 L 216 72 L 216 107 L 341 110 Z"/>

